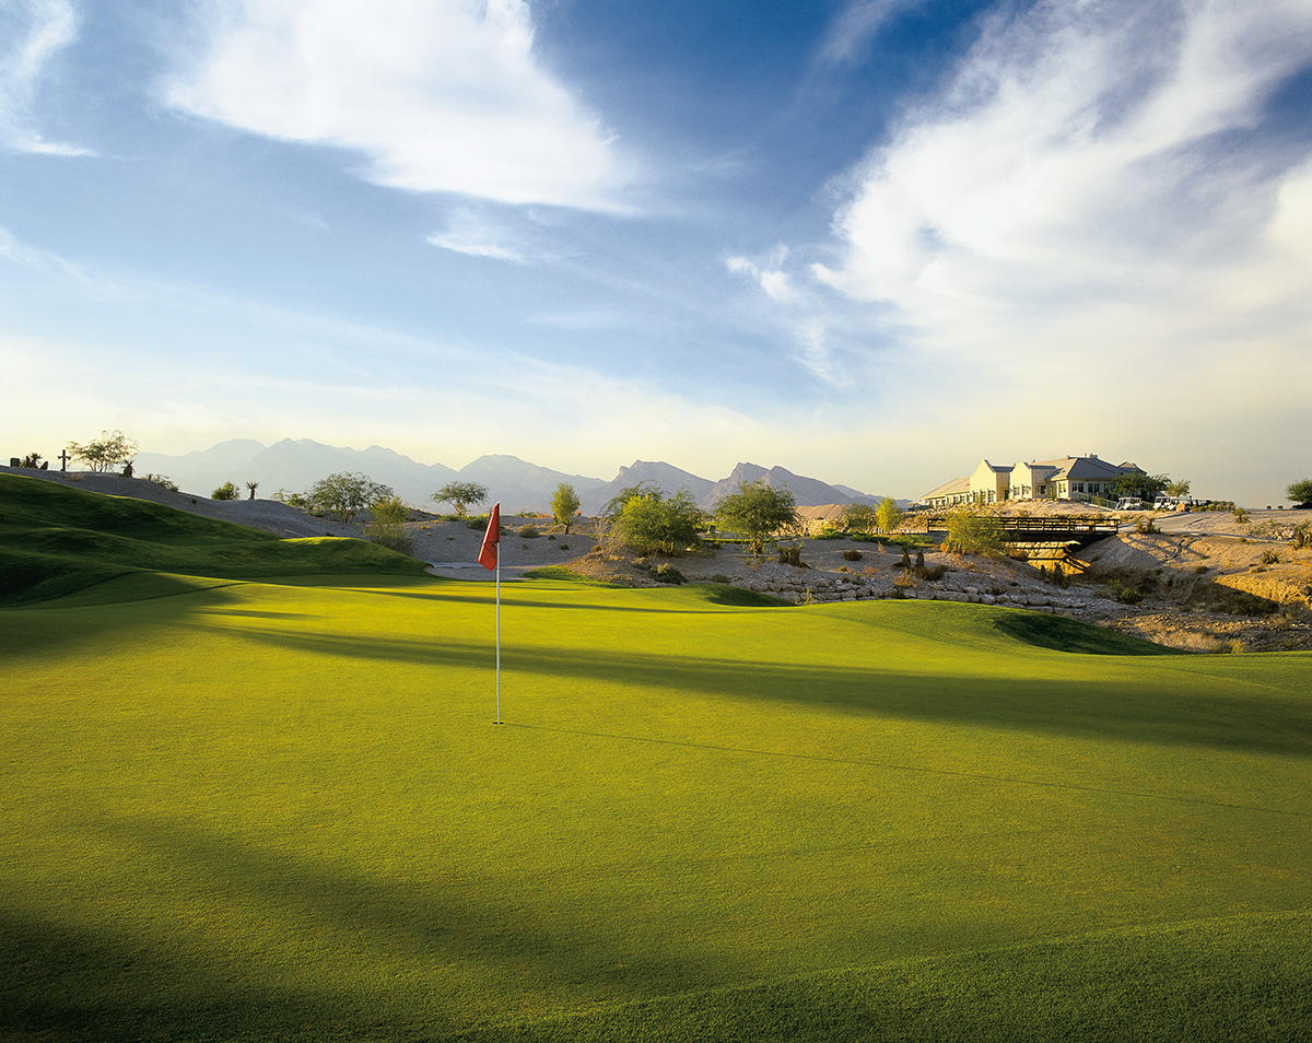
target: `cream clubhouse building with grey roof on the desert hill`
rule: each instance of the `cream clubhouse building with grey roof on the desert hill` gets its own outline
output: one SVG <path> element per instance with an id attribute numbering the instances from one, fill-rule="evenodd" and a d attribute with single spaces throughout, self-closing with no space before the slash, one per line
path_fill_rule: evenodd
<path id="1" fill-rule="evenodd" d="M 1138 464 L 1109 463 L 1096 453 L 1052 460 L 997 464 L 980 460 L 966 478 L 930 489 L 918 501 L 930 510 L 962 504 L 1001 504 L 1006 500 L 1111 500 L 1122 475 L 1144 474 Z"/>

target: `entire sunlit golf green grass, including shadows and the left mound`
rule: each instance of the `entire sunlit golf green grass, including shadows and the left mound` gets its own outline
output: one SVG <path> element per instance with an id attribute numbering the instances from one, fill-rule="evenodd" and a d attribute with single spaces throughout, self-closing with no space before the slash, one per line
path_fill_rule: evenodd
<path id="1" fill-rule="evenodd" d="M 1299 1039 L 1312 655 L 0 476 L 0 1039 Z M 1072 651 L 1073 649 L 1073 651 Z"/>

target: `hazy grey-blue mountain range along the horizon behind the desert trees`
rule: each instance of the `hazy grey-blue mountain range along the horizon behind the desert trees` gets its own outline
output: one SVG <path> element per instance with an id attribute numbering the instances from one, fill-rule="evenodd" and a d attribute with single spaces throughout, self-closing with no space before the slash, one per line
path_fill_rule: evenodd
<path id="1" fill-rule="evenodd" d="M 455 470 L 442 463 L 419 463 L 391 449 L 346 449 L 327 446 L 308 438 L 285 438 L 272 446 L 249 438 L 235 438 L 211 449 L 173 457 L 142 453 L 136 457 L 138 476 L 161 474 L 189 492 L 209 493 L 224 481 L 258 481 L 257 495 L 273 497 L 279 489 L 302 492 L 324 475 L 338 471 L 363 472 L 374 481 L 391 485 L 396 495 L 416 506 L 430 505 L 432 495 L 449 481 L 476 481 L 488 488 L 488 501 L 500 501 L 508 510 L 547 510 L 562 483 L 573 485 L 584 514 L 597 514 L 621 489 L 648 483 L 673 493 L 686 489 L 698 506 L 710 509 L 722 496 L 744 481 L 764 479 L 774 488 L 787 488 L 799 506 L 819 504 L 878 502 L 882 497 L 830 485 L 815 478 L 795 475 L 783 467 L 737 464 L 728 476 L 714 481 L 669 463 L 635 460 L 621 467 L 610 481 L 588 475 L 569 475 L 518 457 L 485 455 Z"/>

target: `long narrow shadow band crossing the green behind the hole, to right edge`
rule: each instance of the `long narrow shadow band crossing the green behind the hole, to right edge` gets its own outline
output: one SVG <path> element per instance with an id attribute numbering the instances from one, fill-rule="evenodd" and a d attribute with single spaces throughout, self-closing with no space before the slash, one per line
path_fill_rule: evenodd
<path id="1" fill-rule="evenodd" d="M 205 624 L 199 624 L 205 626 Z M 294 630 L 224 630 L 253 642 L 362 663 L 487 669 L 484 644 L 451 639 L 356 638 Z M 1072 669 L 1089 669 L 1071 657 Z M 1155 673 L 1141 684 L 1098 678 L 1017 680 L 912 674 L 870 666 L 750 663 L 714 657 L 530 645 L 504 649 L 510 677 L 685 690 L 737 702 L 786 702 L 841 712 L 1127 743 L 1312 754 L 1312 703 L 1281 693 L 1231 694 L 1224 680 Z M 1200 690 L 1204 689 L 1204 690 Z"/>

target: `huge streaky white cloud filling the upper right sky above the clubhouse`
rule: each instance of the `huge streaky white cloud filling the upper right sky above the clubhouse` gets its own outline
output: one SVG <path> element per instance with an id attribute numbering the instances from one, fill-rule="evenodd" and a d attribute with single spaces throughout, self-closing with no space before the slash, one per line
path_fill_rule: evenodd
<path id="1" fill-rule="evenodd" d="M 1274 134 L 1266 106 L 1309 64 L 1305 0 L 996 17 L 950 89 L 854 172 L 844 260 L 812 273 L 988 366 L 1012 399 L 1071 379 L 1106 401 L 1127 365 L 1152 380 L 1185 359 L 1286 358 L 1307 336 L 1312 240 L 1295 230 L 1312 148 Z"/>

